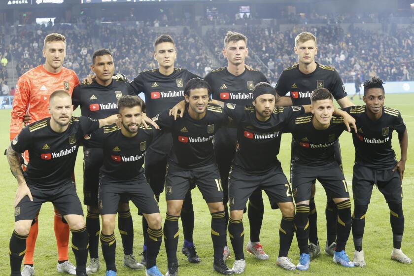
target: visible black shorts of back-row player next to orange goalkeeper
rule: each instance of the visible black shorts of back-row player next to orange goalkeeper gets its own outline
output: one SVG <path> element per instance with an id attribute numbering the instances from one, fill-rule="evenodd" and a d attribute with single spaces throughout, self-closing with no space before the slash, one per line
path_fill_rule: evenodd
<path id="1" fill-rule="evenodd" d="M 104 162 L 104 151 L 84 148 L 83 154 L 83 204 L 98 206 L 99 170 Z"/>

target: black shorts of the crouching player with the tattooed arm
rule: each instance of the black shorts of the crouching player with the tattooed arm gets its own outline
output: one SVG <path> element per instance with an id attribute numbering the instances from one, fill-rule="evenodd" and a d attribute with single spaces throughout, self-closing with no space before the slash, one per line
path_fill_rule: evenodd
<path id="1" fill-rule="evenodd" d="M 82 204 L 76 194 L 74 183 L 64 184 L 55 189 L 41 189 L 29 186 L 33 201 L 25 196 L 14 208 L 14 221 L 35 219 L 40 207 L 45 202 L 51 202 L 55 208 L 64 215 L 82 215 Z"/>

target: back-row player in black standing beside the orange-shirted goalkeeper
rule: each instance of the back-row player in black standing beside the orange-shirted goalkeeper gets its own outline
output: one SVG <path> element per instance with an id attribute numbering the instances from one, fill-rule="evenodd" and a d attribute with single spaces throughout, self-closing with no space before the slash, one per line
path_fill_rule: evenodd
<path id="1" fill-rule="evenodd" d="M 73 89 L 72 103 L 80 105 L 82 116 L 102 119 L 117 114 L 117 101 L 125 95 L 135 95 L 132 87 L 124 81 L 112 79 L 114 62 L 112 54 L 106 49 L 97 50 L 92 56 L 91 70 L 95 72 L 92 84 L 80 84 Z M 98 185 L 99 169 L 103 165 L 104 153 L 94 143 L 96 134 L 92 134 L 83 147 L 83 203 L 88 206 L 86 215 L 86 231 L 89 235 L 90 263 L 87 273 L 96 273 L 100 268 L 98 257 L 99 244 L 99 209 Z M 135 260 L 133 254 L 134 227 L 128 202 L 120 202 L 118 208 L 118 228 L 124 248 L 123 265 L 131 269 L 143 269 L 142 264 Z"/>

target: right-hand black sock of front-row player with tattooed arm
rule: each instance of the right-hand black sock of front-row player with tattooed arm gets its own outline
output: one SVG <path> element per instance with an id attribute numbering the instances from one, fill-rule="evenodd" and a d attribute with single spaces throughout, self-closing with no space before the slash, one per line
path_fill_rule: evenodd
<path id="1" fill-rule="evenodd" d="M 72 251 L 76 259 L 76 275 L 86 273 L 86 262 L 88 261 L 89 237 L 86 227 L 72 232 Z"/>

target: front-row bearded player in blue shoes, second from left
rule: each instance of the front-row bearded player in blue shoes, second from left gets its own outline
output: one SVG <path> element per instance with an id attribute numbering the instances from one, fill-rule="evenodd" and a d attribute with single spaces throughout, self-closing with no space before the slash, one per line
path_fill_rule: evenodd
<path id="1" fill-rule="evenodd" d="M 145 106 L 138 96 L 120 98 L 117 105 L 121 129 L 116 126 L 106 127 L 99 135 L 104 159 L 100 170 L 99 208 L 102 214 L 101 244 L 106 276 L 116 276 L 116 241 L 113 231 L 121 197 L 124 200 L 131 199 L 149 225 L 146 275 L 162 276 L 156 266 L 163 236 L 161 215 L 142 168 L 147 146 L 154 137 L 153 130 L 140 125 Z"/>

